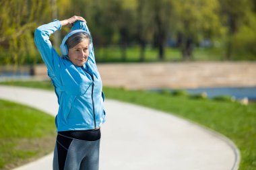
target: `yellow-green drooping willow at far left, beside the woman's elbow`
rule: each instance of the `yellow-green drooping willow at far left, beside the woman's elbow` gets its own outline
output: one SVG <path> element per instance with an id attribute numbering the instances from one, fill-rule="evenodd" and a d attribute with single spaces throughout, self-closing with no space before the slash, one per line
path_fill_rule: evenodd
<path id="1" fill-rule="evenodd" d="M 38 19 L 49 17 L 48 1 L 1 1 L 0 48 L 5 64 L 21 64 L 27 56 L 36 56 L 33 33 Z M 35 60 L 34 60 L 35 62 Z"/>

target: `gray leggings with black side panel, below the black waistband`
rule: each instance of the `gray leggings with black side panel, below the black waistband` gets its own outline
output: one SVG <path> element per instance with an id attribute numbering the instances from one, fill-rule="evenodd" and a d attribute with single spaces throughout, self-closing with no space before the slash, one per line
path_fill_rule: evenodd
<path id="1" fill-rule="evenodd" d="M 79 140 L 57 136 L 53 170 L 98 170 L 100 139 Z"/>

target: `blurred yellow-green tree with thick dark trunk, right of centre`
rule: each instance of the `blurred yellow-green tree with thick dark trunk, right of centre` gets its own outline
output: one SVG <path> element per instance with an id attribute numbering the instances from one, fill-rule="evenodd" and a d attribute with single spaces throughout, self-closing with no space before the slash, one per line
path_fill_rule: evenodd
<path id="1" fill-rule="evenodd" d="M 183 60 L 190 60 L 196 43 L 222 34 L 218 0 L 172 1 L 172 34 L 180 40 Z"/>

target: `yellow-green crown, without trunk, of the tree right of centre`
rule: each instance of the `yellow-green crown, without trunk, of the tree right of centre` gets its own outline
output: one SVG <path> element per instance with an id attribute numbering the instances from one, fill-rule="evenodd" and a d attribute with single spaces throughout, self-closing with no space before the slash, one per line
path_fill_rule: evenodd
<path id="1" fill-rule="evenodd" d="M 194 42 L 222 32 L 218 18 L 220 5 L 217 0 L 172 1 L 172 3 L 174 5 L 173 22 L 177 24 L 172 28 L 176 32 L 193 38 Z"/>

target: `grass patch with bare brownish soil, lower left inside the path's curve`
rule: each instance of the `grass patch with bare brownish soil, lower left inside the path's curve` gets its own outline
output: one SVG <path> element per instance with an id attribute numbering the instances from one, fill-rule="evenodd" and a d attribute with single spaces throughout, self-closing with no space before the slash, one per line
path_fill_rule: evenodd
<path id="1" fill-rule="evenodd" d="M 55 120 L 25 105 L 0 100 L 0 169 L 13 169 L 53 151 Z"/>

